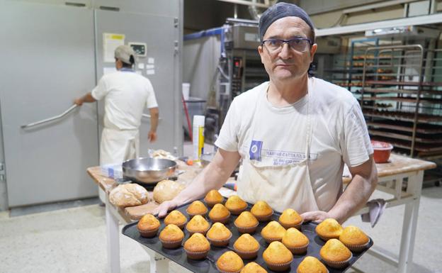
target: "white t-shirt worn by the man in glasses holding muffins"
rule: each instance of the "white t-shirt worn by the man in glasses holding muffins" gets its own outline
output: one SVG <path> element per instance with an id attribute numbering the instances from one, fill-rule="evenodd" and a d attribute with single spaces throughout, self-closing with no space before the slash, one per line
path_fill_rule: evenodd
<path id="1" fill-rule="evenodd" d="M 312 117 L 310 181 L 319 209 L 329 211 L 342 192 L 344 162 L 356 167 L 373 153 L 358 101 L 348 90 L 312 77 L 308 80 L 308 96 L 278 108 L 267 100 L 268 84 L 264 82 L 234 98 L 215 145 L 238 151 L 242 158 L 260 157 L 261 165 L 299 162 L 305 158 L 308 108 Z M 256 123 L 252 132 L 257 103 L 261 108 L 256 111 L 266 118 Z M 260 150 L 249 151 L 252 139 L 254 143 L 260 140 Z"/>

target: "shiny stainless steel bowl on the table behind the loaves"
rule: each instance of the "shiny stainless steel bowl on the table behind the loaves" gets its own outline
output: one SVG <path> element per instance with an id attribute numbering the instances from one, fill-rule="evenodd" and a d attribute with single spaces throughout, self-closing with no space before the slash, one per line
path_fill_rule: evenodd
<path id="1" fill-rule="evenodd" d="M 123 177 L 132 182 L 156 184 L 174 176 L 176 162 L 152 157 L 140 157 L 123 162 Z"/>

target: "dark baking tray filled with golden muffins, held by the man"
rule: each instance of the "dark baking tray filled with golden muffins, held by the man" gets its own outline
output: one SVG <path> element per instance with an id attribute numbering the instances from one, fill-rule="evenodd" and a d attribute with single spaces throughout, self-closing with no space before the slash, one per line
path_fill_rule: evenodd
<path id="1" fill-rule="evenodd" d="M 373 245 L 355 226 L 302 223 L 291 208 L 279 213 L 215 190 L 166 218 L 147 214 L 122 233 L 192 272 L 346 272 Z"/>

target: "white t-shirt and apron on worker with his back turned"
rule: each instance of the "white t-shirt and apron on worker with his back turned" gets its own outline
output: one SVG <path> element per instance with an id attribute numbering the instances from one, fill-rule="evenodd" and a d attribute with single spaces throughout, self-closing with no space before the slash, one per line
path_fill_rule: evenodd
<path id="1" fill-rule="evenodd" d="M 104 129 L 101 134 L 100 165 L 118 164 L 138 157 L 138 128 L 145 108 L 157 107 L 149 79 L 122 69 L 104 75 L 92 90 L 96 100 L 104 98 Z"/>

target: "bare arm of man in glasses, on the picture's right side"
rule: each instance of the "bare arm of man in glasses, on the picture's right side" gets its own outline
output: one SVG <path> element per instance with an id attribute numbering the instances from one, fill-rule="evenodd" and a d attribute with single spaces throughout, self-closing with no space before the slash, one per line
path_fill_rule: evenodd
<path id="1" fill-rule="evenodd" d="M 373 155 L 362 165 L 349 167 L 353 179 L 339 197 L 336 204 L 329 212 L 310 211 L 302 213 L 304 221 L 324 221 L 326 218 L 335 218 L 339 223 L 344 223 L 367 203 L 370 195 L 378 184 L 378 171 Z"/>

